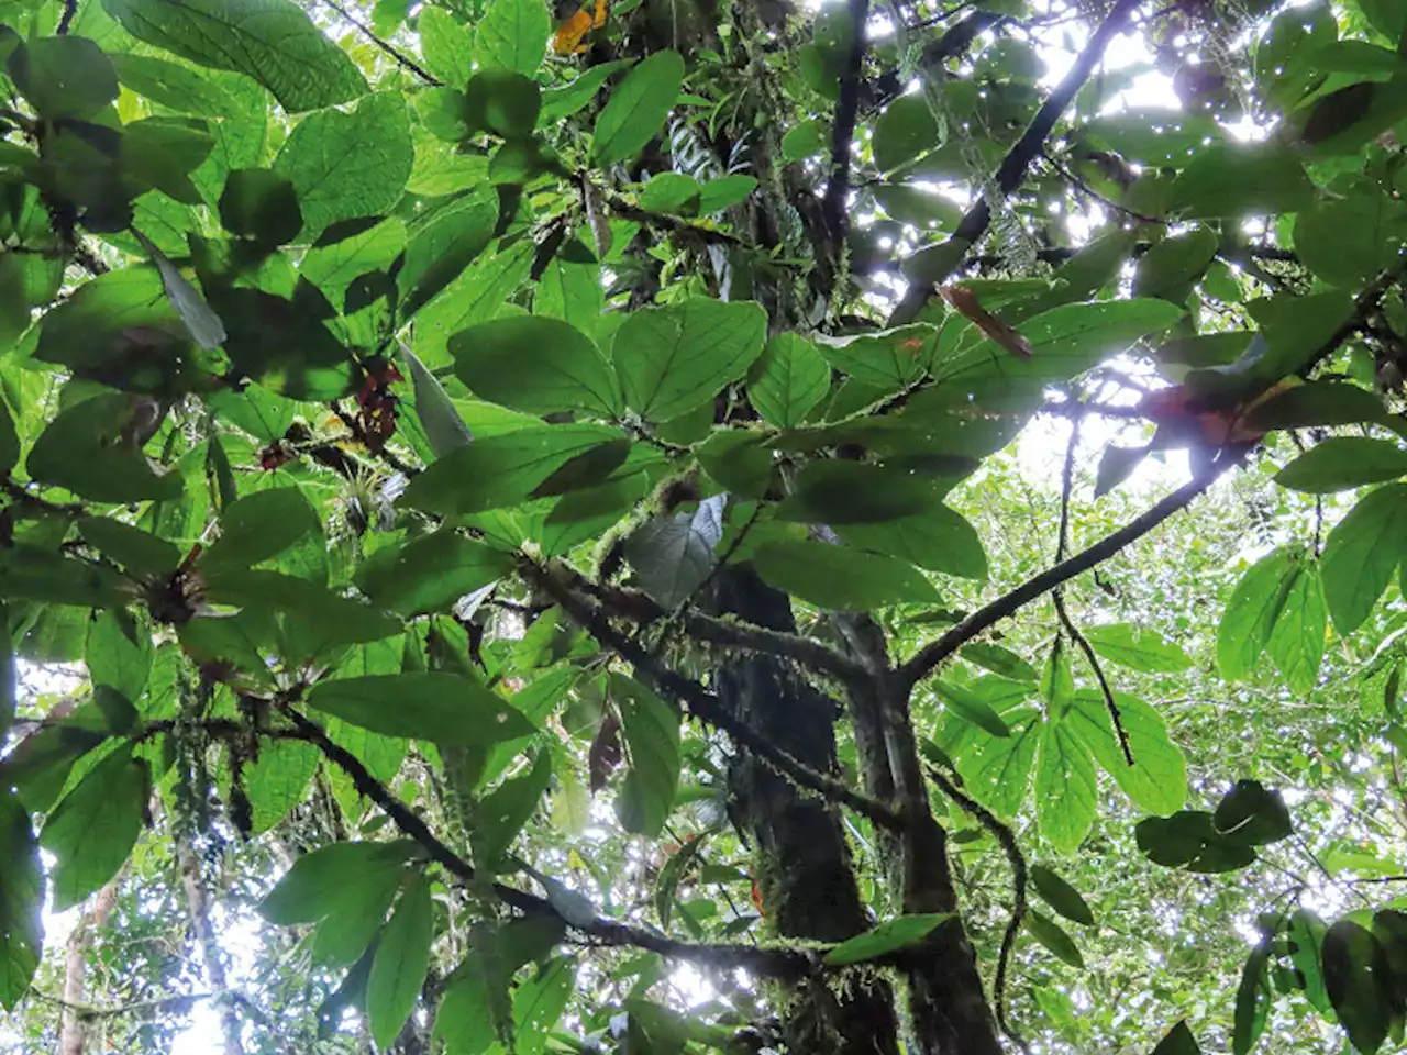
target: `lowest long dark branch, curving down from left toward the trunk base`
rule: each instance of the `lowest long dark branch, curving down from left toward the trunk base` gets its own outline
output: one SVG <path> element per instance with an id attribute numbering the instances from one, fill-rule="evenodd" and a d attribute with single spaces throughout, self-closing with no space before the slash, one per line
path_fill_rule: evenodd
<path id="1" fill-rule="evenodd" d="M 431 831 L 425 820 L 393 795 L 384 784 L 371 776 L 367 768 L 350 751 L 329 740 L 321 726 L 300 715 L 293 708 L 283 708 L 280 713 L 293 723 L 294 731 L 300 738 L 317 747 L 329 762 L 342 769 L 352 779 L 352 786 L 356 788 L 357 793 L 380 806 L 407 837 L 419 843 L 433 861 L 440 864 L 456 879 L 464 883 L 474 882 L 474 867 L 445 845 Z M 546 897 L 539 897 L 505 883 L 494 883 L 494 893 L 504 904 L 519 912 L 563 919 L 561 913 Z M 663 957 L 698 961 L 716 969 L 744 968 L 768 978 L 796 978 L 815 969 L 812 957 L 799 950 L 757 948 L 754 945 L 695 945 L 685 941 L 674 941 L 661 934 L 599 916 L 585 923 L 570 923 L 564 919 L 563 923 L 567 923 L 581 934 L 595 938 L 598 944 L 643 948 L 658 952 Z"/>

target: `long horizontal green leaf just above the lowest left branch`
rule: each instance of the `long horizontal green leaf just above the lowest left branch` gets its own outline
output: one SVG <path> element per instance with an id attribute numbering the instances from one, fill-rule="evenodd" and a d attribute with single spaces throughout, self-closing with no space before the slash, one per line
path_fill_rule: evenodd
<path id="1" fill-rule="evenodd" d="M 378 674 L 318 682 L 307 703 L 383 736 L 487 747 L 533 726 L 495 692 L 456 674 Z"/>

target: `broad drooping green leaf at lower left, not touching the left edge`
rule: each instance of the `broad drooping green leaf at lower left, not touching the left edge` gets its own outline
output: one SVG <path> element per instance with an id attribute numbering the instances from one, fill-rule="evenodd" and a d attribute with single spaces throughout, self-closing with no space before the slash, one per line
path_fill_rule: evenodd
<path id="1" fill-rule="evenodd" d="M 58 861 L 53 910 L 79 904 L 117 875 L 142 831 L 146 813 L 146 762 L 120 747 L 89 769 L 45 817 L 39 845 Z"/>

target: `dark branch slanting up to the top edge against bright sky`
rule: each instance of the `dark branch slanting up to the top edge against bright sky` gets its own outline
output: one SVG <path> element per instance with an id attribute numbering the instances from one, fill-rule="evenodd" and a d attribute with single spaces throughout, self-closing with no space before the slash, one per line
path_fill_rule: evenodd
<path id="1" fill-rule="evenodd" d="M 1016 141 L 1016 145 L 1010 149 L 1006 158 L 1002 159 L 1000 167 L 996 170 L 996 188 L 1003 194 L 1009 196 L 1021 186 L 1026 179 L 1026 172 L 1030 169 L 1031 162 L 1036 160 L 1041 149 L 1045 146 L 1047 138 L 1050 138 L 1051 131 L 1055 128 L 1055 122 L 1059 120 L 1061 114 L 1065 113 L 1067 107 L 1075 100 L 1075 96 L 1089 80 L 1089 76 L 1095 72 L 1095 66 L 1100 63 L 1104 58 L 1104 48 L 1109 42 L 1124 28 L 1128 21 L 1128 15 L 1134 11 L 1142 0 L 1117 0 L 1113 8 L 1109 11 L 1109 17 L 1100 23 L 1099 28 L 1090 34 L 1089 44 L 1085 49 L 1075 58 L 1075 63 L 1069 68 L 1069 72 L 1055 86 L 1050 97 L 1036 111 L 1036 117 L 1031 118 L 1031 124 L 1021 134 L 1021 138 Z M 986 228 L 992 222 L 992 205 L 986 200 L 986 194 L 979 191 L 976 194 L 976 201 L 972 207 L 962 215 L 958 222 L 957 229 L 953 236 L 948 238 L 946 245 L 961 243 L 962 256 L 967 255 L 972 246 L 978 243 Z M 961 264 L 961 257 L 954 262 L 953 269 L 948 271 L 951 274 Z M 895 307 L 893 314 L 889 316 L 889 325 L 898 326 L 905 322 L 912 322 L 919 311 L 923 308 L 929 298 L 929 291 L 933 284 L 940 284 L 947 276 L 933 276 L 930 284 L 926 283 L 912 283 L 909 290 L 900 298 L 898 307 Z"/>

